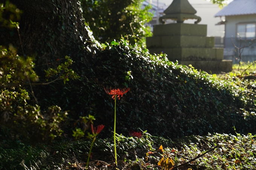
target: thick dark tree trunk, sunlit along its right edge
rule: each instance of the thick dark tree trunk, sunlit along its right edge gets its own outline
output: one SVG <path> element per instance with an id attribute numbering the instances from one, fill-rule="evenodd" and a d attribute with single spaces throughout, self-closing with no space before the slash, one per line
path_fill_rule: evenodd
<path id="1" fill-rule="evenodd" d="M 19 55 L 23 55 L 23 46 L 24 56 L 36 56 L 37 65 L 66 55 L 77 56 L 91 42 L 78 0 L 10 0 L 10 3 L 22 12 L 18 21 L 21 43 L 17 30 L 0 27 L 0 45 L 12 44 Z"/>

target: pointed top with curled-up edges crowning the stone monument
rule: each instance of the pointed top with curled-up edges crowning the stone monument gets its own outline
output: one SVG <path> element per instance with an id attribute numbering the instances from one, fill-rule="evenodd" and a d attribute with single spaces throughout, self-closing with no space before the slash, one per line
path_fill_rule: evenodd
<path id="1" fill-rule="evenodd" d="M 172 4 L 164 11 L 165 15 L 159 18 L 159 22 L 165 24 L 163 19 L 171 19 L 177 23 L 183 23 L 184 20 L 197 19 L 195 24 L 201 21 L 201 17 L 195 15 L 197 11 L 187 0 L 173 0 Z"/>

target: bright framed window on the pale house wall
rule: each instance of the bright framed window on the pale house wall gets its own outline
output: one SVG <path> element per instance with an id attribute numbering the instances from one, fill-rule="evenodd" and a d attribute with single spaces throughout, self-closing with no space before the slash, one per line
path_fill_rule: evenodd
<path id="1" fill-rule="evenodd" d="M 236 38 L 254 38 L 256 24 L 237 24 Z"/>

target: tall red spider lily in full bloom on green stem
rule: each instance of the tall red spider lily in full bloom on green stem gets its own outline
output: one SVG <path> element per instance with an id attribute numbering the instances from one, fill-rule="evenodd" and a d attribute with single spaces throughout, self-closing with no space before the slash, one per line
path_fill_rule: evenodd
<path id="1" fill-rule="evenodd" d="M 116 157 L 116 98 L 120 99 L 125 93 L 127 93 L 130 88 L 123 88 L 123 89 L 108 89 L 104 87 L 104 90 L 107 94 L 112 95 L 112 99 L 115 100 L 115 112 L 114 112 L 114 150 L 115 150 L 115 161 L 117 165 L 117 157 Z"/>

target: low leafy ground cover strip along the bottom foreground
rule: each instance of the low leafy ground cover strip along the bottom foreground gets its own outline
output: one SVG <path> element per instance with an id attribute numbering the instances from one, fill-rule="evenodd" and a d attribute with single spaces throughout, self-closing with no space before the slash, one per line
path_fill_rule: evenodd
<path id="1" fill-rule="evenodd" d="M 143 136 L 117 136 L 117 155 L 119 169 L 161 170 L 158 165 L 162 158 L 172 159 L 174 166 L 203 154 L 218 146 L 195 161 L 177 169 L 205 170 L 253 170 L 256 167 L 256 136 L 247 134 L 207 134 L 192 135 L 171 140 L 154 137 L 148 133 Z M 90 159 L 93 170 L 114 168 L 113 139 L 97 139 Z M 159 147 L 163 146 L 163 150 Z M 20 141 L 5 141 L 0 144 L 1 169 L 83 170 L 87 160 L 90 141 L 62 141 L 52 145 L 40 144 L 31 147 Z M 172 166 L 172 167 L 174 167 Z"/>

